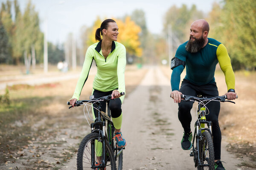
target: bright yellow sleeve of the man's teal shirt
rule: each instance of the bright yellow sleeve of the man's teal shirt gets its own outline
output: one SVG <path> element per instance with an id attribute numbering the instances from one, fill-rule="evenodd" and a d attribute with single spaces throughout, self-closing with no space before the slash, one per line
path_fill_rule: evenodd
<path id="1" fill-rule="evenodd" d="M 227 53 L 227 48 L 223 44 L 220 44 L 217 48 L 216 54 L 221 70 L 225 75 L 227 90 L 235 89 L 235 74 L 231 65 L 230 57 Z"/>

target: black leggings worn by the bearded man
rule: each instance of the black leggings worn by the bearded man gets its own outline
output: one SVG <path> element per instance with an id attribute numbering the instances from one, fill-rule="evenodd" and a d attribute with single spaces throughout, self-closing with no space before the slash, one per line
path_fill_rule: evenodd
<path id="1" fill-rule="evenodd" d="M 204 97 L 214 97 L 218 96 L 218 88 L 216 83 L 208 85 L 194 85 L 186 79 L 183 79 L 181 83 L 180 92 L 189 96 L 197 96 L 198 94 Z M 180 102 L 178 118 L 184 129 L 184 132 L 190 132 L 190 123 L 192 121 L 191 109 L 194 102 Z M 218 115 L 220 112 L 220 102 L 209 102 L 206 107 L 209 109 L 209 114 L 207 111 L 206 119 L 212 121 L 212 136 L 213 136 L 213 146 L 215 160 L 221 159 L 221 129 L 218 124 Z"/>

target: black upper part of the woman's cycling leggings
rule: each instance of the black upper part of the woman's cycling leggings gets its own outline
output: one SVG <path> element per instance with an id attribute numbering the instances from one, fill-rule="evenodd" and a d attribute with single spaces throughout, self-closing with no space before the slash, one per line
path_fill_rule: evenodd
<path id="1" fill-rule="evenodd" d="M 108 96 L 110 94 L 112 94 L 112 91 L 103 92 L 103 91 L 98 91 L 95 89 L 93 91 L 94 98 Z M 121 105 L 122 105 L 122 102 L 119 98 L 109 101 L 109 109 L 111 111 L 111 117 L 117 118 L 121 115 L 121 113 L 122 113 Z M 94 104 L 93 107 L 96 107 L 96 105 Z M 106 113 L 106 102 L 101 102 L 101 108 L 102 108 L 102 111 Z M 94 112 L 95 117 L 97 117 L 97 111 L 95 108 L 94 108 L 93 112 Z"/>

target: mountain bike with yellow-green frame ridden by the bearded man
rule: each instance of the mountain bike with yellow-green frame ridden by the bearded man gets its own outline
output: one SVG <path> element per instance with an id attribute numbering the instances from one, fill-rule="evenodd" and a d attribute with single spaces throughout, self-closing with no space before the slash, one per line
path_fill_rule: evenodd
<path id="1" fill-rule="evenodd" d="M 216 97 L 202 97 L 198 95 L 188 96 L 181 95 L 182 101 L 192 101 L 198 102 L 197 115 L 198 119 L 195 122 L 195 132 L 192 142 L 192 150 L 190 151 L 189 156 L 194 157 L 195 167 L 198 170 L 214 170 L 214 147 L 212 142 L 212 122 L 206 120 L 207 113 L 207 103 L 211 101 L 218 102 L 232 102 L 226 100 L 227 96 L 216 96 Z M 238 96 L 236 96 L 238 98 Z M 209 113 L 209 110 L 208 110 Z M 207 124 L 207 127 L 205 127 Z"/>

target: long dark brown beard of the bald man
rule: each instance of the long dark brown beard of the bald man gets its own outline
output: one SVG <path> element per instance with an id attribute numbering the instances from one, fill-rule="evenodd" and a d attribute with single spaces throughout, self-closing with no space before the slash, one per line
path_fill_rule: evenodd
<path id="1" fill-rule="evenodd" d="M 204 46 L 205 40 L 202 37 L 199 39 L 194 39 L 194 41 L 191 40 L 191 37 L 189 38 L 189 42 L 186 44 L 186 51 L 189 51 L 190 53 L 197 53 L 201 48 Z"/>

